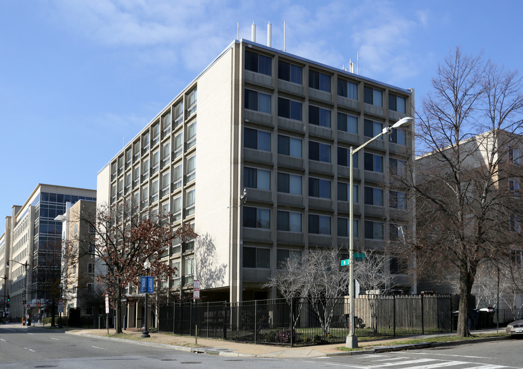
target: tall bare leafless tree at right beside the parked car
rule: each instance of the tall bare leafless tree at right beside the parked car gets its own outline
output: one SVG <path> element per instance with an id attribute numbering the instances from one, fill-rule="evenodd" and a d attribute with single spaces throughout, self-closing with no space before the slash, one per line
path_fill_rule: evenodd
<path id="1" fill-rule="evenodd" d="M 415 196 L 412 244 L 418 273 L 458 276 L 458 336 L 470 336 L 468 302 L 483 262 L 503 262 L 521 243 L 522 80 L 484 62 L 450 52 L 423 99 L 417 123 L 416 174 L 403 179 Z M 402 180 L 402 178 L 396 178 Z M 519 186 L 516 186 L 519 188 Z M 511 231 L 511 232 L 510 232 Z"/>

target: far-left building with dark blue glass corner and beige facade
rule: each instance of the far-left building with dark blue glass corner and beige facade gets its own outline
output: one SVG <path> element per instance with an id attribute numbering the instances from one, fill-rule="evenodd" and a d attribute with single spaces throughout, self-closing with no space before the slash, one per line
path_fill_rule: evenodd
<path id="1" fill-rule="evenodd" d="M 28 304 L 45 304 L 48 284 L 60 275 L 62 223 L 55 217 L 65 212 L 67 202 L 80 199 L 96 200 L 96 191 L 38 184 L 24 205 L 14 205 L 6 217 L 0 236 L 0 273 L 6 279 L 0 295 L 10 296 L 12 321 L 21 321 Z"/>

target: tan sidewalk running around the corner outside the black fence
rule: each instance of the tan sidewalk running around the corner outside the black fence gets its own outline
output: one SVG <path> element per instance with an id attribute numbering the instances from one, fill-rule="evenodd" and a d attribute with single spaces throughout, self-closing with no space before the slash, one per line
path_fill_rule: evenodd
<path id="1" fill-rule="evenodd" d="M 21 324 L 10 324 L 16 327 L 22 327 Z M 38 329 L 40 326 L 24 326 L 28 329 Z M 86 337 L 94 337 L 106 340 L 123 340 L 129 343 L 151 345 L 154 347 L 164 347 L 173 350 L 192 351 L 192 352 L 203 352 L 210 354 L 218 354 L 220 356 L 251 356 L 258 358 L 320 358 L 325 356 L 338 356 L 338 355 L 354 355 L 354 354 L 368 354 L 383 351 L 396 351 L 406 349 L 420 349 L 429 347 L 427 344 L 414 344 L 414 345 L 400 345 L 393 347 L 390 345 L 391 342 L 408 341 L 413 339 L 427 339 L 430 337 L 441 337 L 441 336 L 452 336 L 454 333 L 433 333 L 426 335 L 411 335 L 411 336 L 398 336 L 394 338 L 386 339 L 373 339 L 368 341 L 360 341 L 360 347 L 368 347 L 368 350 L 361 351 L 340 351 L 338 347 L 345 347 L 345 343 L 333 343 L 323 344 L 308 347 L 279 347 L 276 345 L 265 345 L 265 344 L 254 344 L 254 343 L 242 343 L 242 342 L 231 342 L 209 338 L 198 338 L 198 344 L 195 344 L 195 337 L 190 336 L 173 336 L 164 333 L 150 333 L 150 338 L 140 338 L 142 332 L 135 329 L 124 330 L 124 333 L 132 336 L 132 339 L 121 339 L 105 337 L 107 335 L 107 329 L 77 329 L 63 328 L 66 334 L 79 335 Z M 503 332 L 504 329 L 499 329 L 499 332 Z M 472 331 L 472 334 L 478 333 L 496 333 L 496 329 L 484 329 Z M 114 335 L 115 330 L 109 329 L 109 335 Z M 508 339 L 510 337 L 493 337 L 481 339 L 481 342 L 495 341 L 501 339 Z M 431 347 L 437 345 L 449 345 L 449 344 L 463 344 L 463 343 L 474 343 L 478 340 L 472 341 L 454 341 L 454 342 L 442 342 L 433 343 Z"/>

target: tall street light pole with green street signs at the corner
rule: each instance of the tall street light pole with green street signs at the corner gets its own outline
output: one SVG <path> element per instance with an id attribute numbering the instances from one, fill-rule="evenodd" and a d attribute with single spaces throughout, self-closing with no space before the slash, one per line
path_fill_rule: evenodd
<path id="1" fill-rule="evenodd" d="M 350 147 L 350 160 L 349 160 L 349 278 L 350 278 L 350 325 L 349 325 L 349 335 L 345 341 L 345 347 L 355 349 L 358 348 L 358 337 L 356 336 L 355 330 L 355 309 L 354 304 L 356 302 L 356 283 L 354 281 L 354 179 L 353 179 L 353 160 L 354 154 L 360 151 L 363 147 L 370 144 L 372 141 L 379 139 L 384 134 L 390 134 L 394 129 L 406 127 L 411 125 L 414 119 L 411 117 L 405 117 L 394 123 L 391 127 L 385 127 L 380 134 L 372 137 L 369 141 L 363 145 L 353 148 Z"/>

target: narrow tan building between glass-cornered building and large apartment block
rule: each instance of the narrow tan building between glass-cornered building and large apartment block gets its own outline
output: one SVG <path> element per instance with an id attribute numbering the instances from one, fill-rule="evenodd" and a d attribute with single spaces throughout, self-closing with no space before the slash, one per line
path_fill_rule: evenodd
<path id="1" fill-rule="evenodd" d="M 70 309 L 80 315 L 97 315 L 103 301 L 97 274 L 105 274 L 106 266 L 95 257 L 95 233 L 89 222 L 95 221 L 96 201 L 67 202 L 65 213 L 56 217 L 62 222 L 62 283 L 64 314 Z"/>

